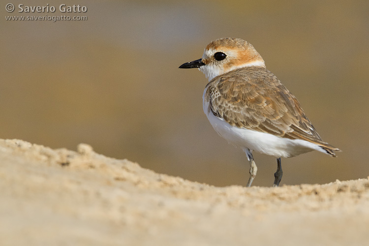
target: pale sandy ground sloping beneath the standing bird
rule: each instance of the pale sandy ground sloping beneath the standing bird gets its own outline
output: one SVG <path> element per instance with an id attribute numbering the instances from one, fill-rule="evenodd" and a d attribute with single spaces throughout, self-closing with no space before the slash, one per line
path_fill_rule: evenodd
<path id="1" fill-rule="evenodd" d="M 369 245 L 368 179 L 214 187 L 22 140 L 0 159 L 1 246 Z"/>

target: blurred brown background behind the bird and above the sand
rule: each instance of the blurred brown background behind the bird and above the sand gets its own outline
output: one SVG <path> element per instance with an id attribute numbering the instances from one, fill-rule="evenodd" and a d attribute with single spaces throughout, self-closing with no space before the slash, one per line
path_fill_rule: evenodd
<path id="1" fill-rule="evenodd" d="M 54 13 L 18 12 L 18 4 L 47 3 Z M 60 13 L 62 3 L 88 11 Z M 178 69 L 210 41 L 238 37 L 299 99 L 323 140 L 343 151 L 282 159 L 281 184 L 369 176 L 367 0 L 1 0 L 0 13 L 0 138 L 71 150 L 83 142 L 158 173 L 246 185 L 246 155 L 203 113 L 207 79 Z M 88 20 L 5 20 L 46 14 Z M 271 186 L 275 158 L 254 158 L 253 185 Z"/>

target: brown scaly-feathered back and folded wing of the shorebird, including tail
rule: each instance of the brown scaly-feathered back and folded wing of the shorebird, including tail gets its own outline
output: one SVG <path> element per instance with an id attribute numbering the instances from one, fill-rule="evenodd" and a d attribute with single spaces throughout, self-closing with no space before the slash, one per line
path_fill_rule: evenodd
<path id="1" fill-rule="evenodd" d="M 295 96 L 264 67 L 232 70 L 215 77 L 206 88 L 208 110 L 233 126 L 306 140 L 332 156 L 339 151 L 322 141 Z"/>

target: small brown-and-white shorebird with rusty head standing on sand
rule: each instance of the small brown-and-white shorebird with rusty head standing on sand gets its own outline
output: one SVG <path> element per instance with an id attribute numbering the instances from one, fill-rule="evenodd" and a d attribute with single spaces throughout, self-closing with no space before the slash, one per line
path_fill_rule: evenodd
<path id="1" fill-rule="evenodd" d="M 220 136 L 245 151 L 250 163 L 247 186 L 257 172 L 252 151 L 277 158 L 273 186 L 282 179 L 281 157 L 313 150 L 336 156 L 334 151 L 340 151 L 320 138 L 299 101 L 245 40 L 216 39 L 201 59 L 179 68 L 199 68 L 209 79 L 204 113 Z"/>

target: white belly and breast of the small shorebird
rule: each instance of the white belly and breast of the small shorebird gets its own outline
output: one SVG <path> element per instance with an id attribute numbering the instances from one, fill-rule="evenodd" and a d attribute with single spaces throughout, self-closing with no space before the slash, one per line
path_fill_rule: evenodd
<path id="1" fill-rule="evenodd" d="M 203 109 L 215 131 L 229 143 L 243 150 L 249 149 L 262 154 L 279 157 L 292 157 L 313 150 L 324 152 L 318 145 L 300 139 L 281 138 L 269 133 L 258 132 L 246 128 L 232 126 L 223 119 L 216 117 L 209 109 L 203 95 Z"/>

